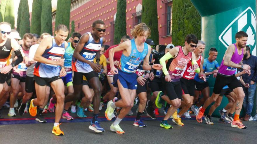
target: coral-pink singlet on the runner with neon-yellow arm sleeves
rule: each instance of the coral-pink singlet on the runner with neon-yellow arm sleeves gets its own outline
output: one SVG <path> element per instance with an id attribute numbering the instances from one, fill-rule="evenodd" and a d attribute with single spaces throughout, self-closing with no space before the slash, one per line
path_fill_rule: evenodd
<path id="1" fill-rule="evenodd" d="M 176 47 L 179 48 L 178 55 L 172 59 L 168 70 L 173 82 L 180 81 L 181 73 L 183 72 L 185 65 L 192 59 L 191 52 L 185 55 L 181 46 Z"/>

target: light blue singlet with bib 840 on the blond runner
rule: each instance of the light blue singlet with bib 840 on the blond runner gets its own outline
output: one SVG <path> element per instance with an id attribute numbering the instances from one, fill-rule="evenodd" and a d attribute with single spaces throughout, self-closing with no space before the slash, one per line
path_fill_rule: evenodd
<path id="1" fill-rule="evenodd" d="M 127 73 L 134 73 L 138 68 L 139 64 L 143 61 L 145 56 L 148 53 L 148 45 L 144 43 L 144 49 L 142 52 L 139 52 L 136 48 L 135 39 L 131 41 L 131 53 L 129 56 L 125 56 L 123 53 L 119 61 L 118 68 Z"/>

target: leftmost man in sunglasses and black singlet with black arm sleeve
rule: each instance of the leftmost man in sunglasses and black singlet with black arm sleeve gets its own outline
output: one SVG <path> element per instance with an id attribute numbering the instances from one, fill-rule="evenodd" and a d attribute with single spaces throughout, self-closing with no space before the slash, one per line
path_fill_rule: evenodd
<path id="1" fill-rule="evenodd" d="M 21 53 L 20 45 L 18 45 L 17 41 L 13 38 L 8 38 L 8 35 L 11 33 L 11 24 L 7 22 L 0 23 L 0 93 L 3 90 L 4 83 L 9 72 L 23 61 L 23 56 Z M 11 52 L 14 51 L 17 56 L 16 61 L 12 61 L 10 63 Z M 24 59 L 25 60 L 25 59 Z M 27 60 L 25 60 L 26 63 Z M 2 97 L 0 97 L 1 101 Z M 1 113 L 0 113 L 1 115 Z M 1 117 L 1 116 L 0 116 Z"/>

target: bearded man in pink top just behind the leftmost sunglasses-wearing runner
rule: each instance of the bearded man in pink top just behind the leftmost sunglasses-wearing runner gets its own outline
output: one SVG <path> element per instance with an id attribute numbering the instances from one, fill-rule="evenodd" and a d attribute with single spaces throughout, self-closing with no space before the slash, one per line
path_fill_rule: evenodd
<path id="1" fill-rule="evenodd" d="M 31 33 L 25 33 L 23 35 L 23 43 L 21 45 L 22 51 L 27 57 L 29 55 L 29 48 L 33 42 L 33 35 Z M 17 100 L 18 93 L 21 91 L 22 96 L 25 95 L 25 80 L 26 80 L 27 66 L 24 62 L 19 63 L 16 67 L 13 67 L 11 88 L 12 94 L 10 96 L 10 109 L 8 116 L 16 116 L 14 111 L 14 104 Z M 21 88 L 21 89 L 20 89 Z"/>

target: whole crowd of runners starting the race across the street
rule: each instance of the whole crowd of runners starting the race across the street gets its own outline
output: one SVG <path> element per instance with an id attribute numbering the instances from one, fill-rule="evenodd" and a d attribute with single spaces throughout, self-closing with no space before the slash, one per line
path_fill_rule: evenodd
<path id="1" fill-rule="evenodd" d="M 102 20 L 93 22 L 92 33 L 72 33 L 67 41 L 69 30 L 63 24 L 56 27 L 55 36 L 26 33 L 22 40 L 6 22 L 0 23 L 0 30 L 0 107 L 9 99 L 9 117 L 29 113 L 46 122 L 45 113 L 55 112 L 52 133 L 64 135 L 60 119 L 73 120 L 69 113 L 87 117 L 85 111 L 93 112 L 89 129 L 104 132 L 98 115 L 105 112 L 107 120 L 115 119 L 110 130 L 124 134 L 119 123 L 133 114 L 135 102 L 134 126 L 145 127 L 141 116 L 156 119 L 163 108 L 159 125 L 165 129 L 172 129 L 169 118 L 183 126 L 181 116 L 191 118 L 191 112 L 202 122 L 205 109 L 215 102 L 204 116 L 213 125 L 211 115 L 225 95 L 229 103 L 219 111 L 219 122 L 246 129 L 239 113 L 245 96 L 242 87 L 249 84 L 241 75 L 249 75 L 251 67 L 242 63 L 248 37 L 243 31 L 236 33 L 236 43 L 229 45 L 219 64 L 217 49 L 205 47 L 194 34 L 185 37 L 183 46 L 169 44 L 164 51 L 154 51 L 145 23 L 134 27 L 133 38 L 124 35 L 110 47 L 104 45 Z M 205 59 L 204 51 L 209 51 Z M 216 78 L 211 96 L 209 77 Z"/>

